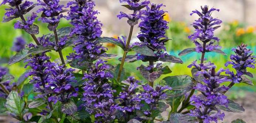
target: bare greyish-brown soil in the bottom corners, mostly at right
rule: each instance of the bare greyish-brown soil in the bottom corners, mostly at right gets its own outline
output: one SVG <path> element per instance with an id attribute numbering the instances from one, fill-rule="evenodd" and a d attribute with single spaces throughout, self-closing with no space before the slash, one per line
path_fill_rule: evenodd
<path id="1" fill-rule="evenodd" d="M 225 112 L 225 119 L 223 122 L 219 123 L 231 123 L 233 120 L 242 119 L 246 123 L 256 123 L 256 93 L 246 93 L 246 96 L 243 98 L 238 98 L 235 100 L 236 103 L 243 106 L 245 109 L 244 113 L 232 113 Z M 163 113 L 167 114 L 167 113 Z M 9 116 L 0 116 L 0 123 L 10 123 L 17 122 Z"/>

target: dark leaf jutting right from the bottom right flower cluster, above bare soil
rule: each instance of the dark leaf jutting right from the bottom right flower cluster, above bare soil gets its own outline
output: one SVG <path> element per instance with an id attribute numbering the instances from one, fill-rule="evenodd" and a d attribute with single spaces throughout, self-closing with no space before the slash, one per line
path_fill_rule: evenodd
<path id="1" fill-rule="evenodd" d="M 228 100 L 228 108 L 223 105 L 219 105 L 219 108 L 224 111 L 235 112 L 235 113 L 243 113 L 245 111 L 243 106 L 237 104 L 236 102 L 234 102 L 232 100 Z"/>

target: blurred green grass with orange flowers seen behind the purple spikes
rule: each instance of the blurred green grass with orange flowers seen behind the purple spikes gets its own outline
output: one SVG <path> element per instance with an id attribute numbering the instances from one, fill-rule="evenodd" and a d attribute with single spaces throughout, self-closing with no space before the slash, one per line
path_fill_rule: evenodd
<path id="1" fill-rule="evenodd" d="M 0 21 L 2 21 L 3 15 L 4 15 L 4 6 L 0 6 Z M 194 44 L 192 41 L 188 39 L 188 35 L 191 35 L 191 33 L 194 31 L 192 26 L 190 26 L 190 23 L 186 22 L 175 22 L 170 19 L 168 14 L 165 16 L 165 20 L 169 21 L 170 29 L 167 30 L 166 35 L 173 39 L 169 41 L 166 45 L 167 52 L 171 55 L 178 56 L 178 53 L 183 50 L 184 48 L 194 47 Z M 16 76 L 16 79 L 18 76 L 22 75 L 23 72 L 25 72 L 24 66 L 25 64 L 23 62 L 19 62 L 13 65 L 8 65 L 8 59 L 15 54 L 15 52 L 11 51 L 11 47 L 13 45 L 13 41 L 18 36 L 22 36 L 27 43 L 30 43 L 32 41 L 32 38 L 30 35 L 28 35 L 26 32 L 20 30 L 20 29 L 14 29 L 13 25 L 17 20 L 13 20 L 7 23 L 0 22 L 0 64 L 1 66 L 6 66 L 9 68 L 10 73 L 14 76 Z M 46 35 L 48 33 L 51 33 L 47 29 L 47 24 L 35 22 L 36 25 L 40 27 L 40 35 L 42 36 Z M 59 23 L 58 28 L 70 26 L 68 21 L 65 21 L 64 19 Z M 126 26 L 126 25 L 123 25 Z M 128 25 L 127 25 L 128 26 Z M 240 23 L 238 21 L 233 22 L 224 22 L 222 25 L 222 28 L 218 29 L 218 32 L 216 32 L 216 35 L 221 39 L 219 42 L 219 45 L 222 46 L 222 50 L 227 54 L 226 56 L 217 54 L 217 53 L 206 53 L 206 58 L 208 61 L 212 61 L 217 66 L 217 69 L 219 68 L 226 68 L 224 66 L 225 62 L 229 60 L 231 52 L 231 48 L 236 47 L 240 43 L 248 44 L 248 46 L 252 49 L 252 51 L 255 53 L 256 50 L 256 26 L 255 25 L 246 25 L 244 23 Z M 115 35 L 109 36 L 109 37 L 116 37 Z M 107 53 L 112 54 L 118 54 L 119 57 L 122 57 L 122 50 L 119 47 L 110 45 L 110 44 L 104 44 L 109 50 Z M 68 55 L 69 53 L 72 53 L 72 47 L 65 48 L 63 51 L 64 56 Z M 58 54 L 54 53 L 52 51 L 51 53 L 48 53 L 52 59 L 58 58 Z M 130 53 L 134 54 L 134 53 Z M 168 65 L 172 73 L 168 75 L 161 76 L 156 83 L 160 82 L 161 78 L 165 76 L 174 76 L 174 75 L 191 75 L 190 68 L 187 68 L 187 66 L 194 61 L 195 59 L 199 59 L 201 57 L 201 54 L 198 53 L 191 53 L 185 56 L 180 57 L 184 64 L 173 64 L 173 63 L 163 63 L 164 65 Z M 120 62 L 116 59 L 111 59 L 109 62 L 111 64 L 119 64 Z M 143 77 L 140 76 L 139 71 L 136 70 L 138 66 L 142 64 L 141 61 L 137 61 L 134 63 L 126 63 L 124 68 L 126 70 L 127 75 L 135 76 L 137 79 L 143 80 Z M 147 64 L 147 63 L 143 63 Z M 229 69 L 232 69 L 229 67 Z M 254 75 L 256 75 L 256 69 L 248 69 L 249 72 L 252 72 Z M 253 83 L 256 84 L 256 79 L 253 79 Z M 229 84 L 229 83 L 226 83 Z M 232 92 L 229 93 L 229 97 L 232 98 L 238 98 L 239 96 L 243 97 L 245 94 L 245 91 L 256 91 L 256 86 L 248 86 L 247 84 L 236 84 L 234 87 L 232 87 Z M 237 92 L 240 92 L 237 94 Z"/>

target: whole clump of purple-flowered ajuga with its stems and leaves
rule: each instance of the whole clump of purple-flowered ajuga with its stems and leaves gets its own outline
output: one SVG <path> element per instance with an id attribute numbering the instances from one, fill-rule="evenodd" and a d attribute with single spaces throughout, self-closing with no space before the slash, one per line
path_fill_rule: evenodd
<path id="1" fill-rule="evenodd" d="M 179 55 L 196 51 L 201 59 L 188 65 L 192 76 L 170 76 L 168 63 L 183 62 L 166 52 L 165 43 L 171 39 L 165 35 L 165 5 L 149 0 L 119 1 L 131 10 L 130 14 L 117 15 L 127 19 L 128 38 L 101 37 L 103 24 L 97 19 L 99 12 L 93 0 L 73 0 L 66 6 L 59 0 L 38 0 L 35 4 L 3 0 L 1 5 L 10 6 L 3 22 L 19 18 L 14 28 L 31 35 L 34 43 L 22 37 L 13 43 L 11 50 L 16 55 L 10 58 L 9 65 L 23 61 L 27 70 L 18 79 L 7 68 L 0 67 L 0 113 L 9 114 L 19 123 L 217 123 L 224 119 L 223 111 L 244 111 L 225 93 L 234 84 L 253 85 L 248 78 L 253 74 L 247 71 L 248 67 L 255 68 L 253 52 L 245 44 L 234 48 L 235 54 L 225 64 L 232 66 L 230 70 L 217 69 L 205 59 L 208 52 L 226 55 L 218 45 L 220 39 L 214 35 L 222 23 L 212 17 L 212 12 L 218 9 L 204 6 L 200 11 L 192 11 L 191 15 L 199 15 L 192 23 L 195 32 L 188 36 L 195 47 Z M 27 17 L 28 12 L 31 15 Z M 70 26 L 58 27 L 62 19 L 68 20 Z M 52 33 L 38 37 L 35 20 L 47 23 Z M 136 35 L 139 42 L 130 44 L 134 28 L 140 29 Z M 106 59 L 117 60 L 117 55 L 107 54 L 103 43 L 123 49 L 120 64 L 107 62 Z M 73 50 L 63 56 L 66 47 Z M 51 51 L 57 52 L 59 58 L 51 58 Z M 128 55 L 130 52 L 134 55 Z M 143 65 L 137 66 L 137 70 L 144 82 L 127 76 L 124 70 L 125 62 L 133 64 L 139 60 Z M 162 75 L 165 77 L 160 79 Z M 223 86 L 224 82 L 229 86 Z M 169 115 L 162 116 L 166 114 L 162 112 Z"/>

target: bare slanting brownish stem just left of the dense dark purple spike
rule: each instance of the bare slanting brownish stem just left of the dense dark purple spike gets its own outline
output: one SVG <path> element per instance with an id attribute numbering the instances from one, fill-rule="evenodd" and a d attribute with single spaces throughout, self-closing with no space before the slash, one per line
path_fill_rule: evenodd
<path id="1" fill-rule="evenodd" d="M 125 49 L 124 49 L 122 62 L 121 62 L 121 65 L 120 65 L 120 68 L 119 68 L 119 71 L 118 71 L 117 82 L 119 82 L 119 80 L 120 80 L 120 77 L 121 77 L 121 74 L 122 74 L 122 71 L 123 71 L 124 61 L 125 61 L 127 53 L 129 52 L 130 41 L 132 39 L 132 34 L 133 34 L 133 27 L 134 26 L 130 27 L 129 37 L 128 37 L 128 40 L 127 40 L 127 43 L 126 43 L 126 46 L 125 46 Z"/>

